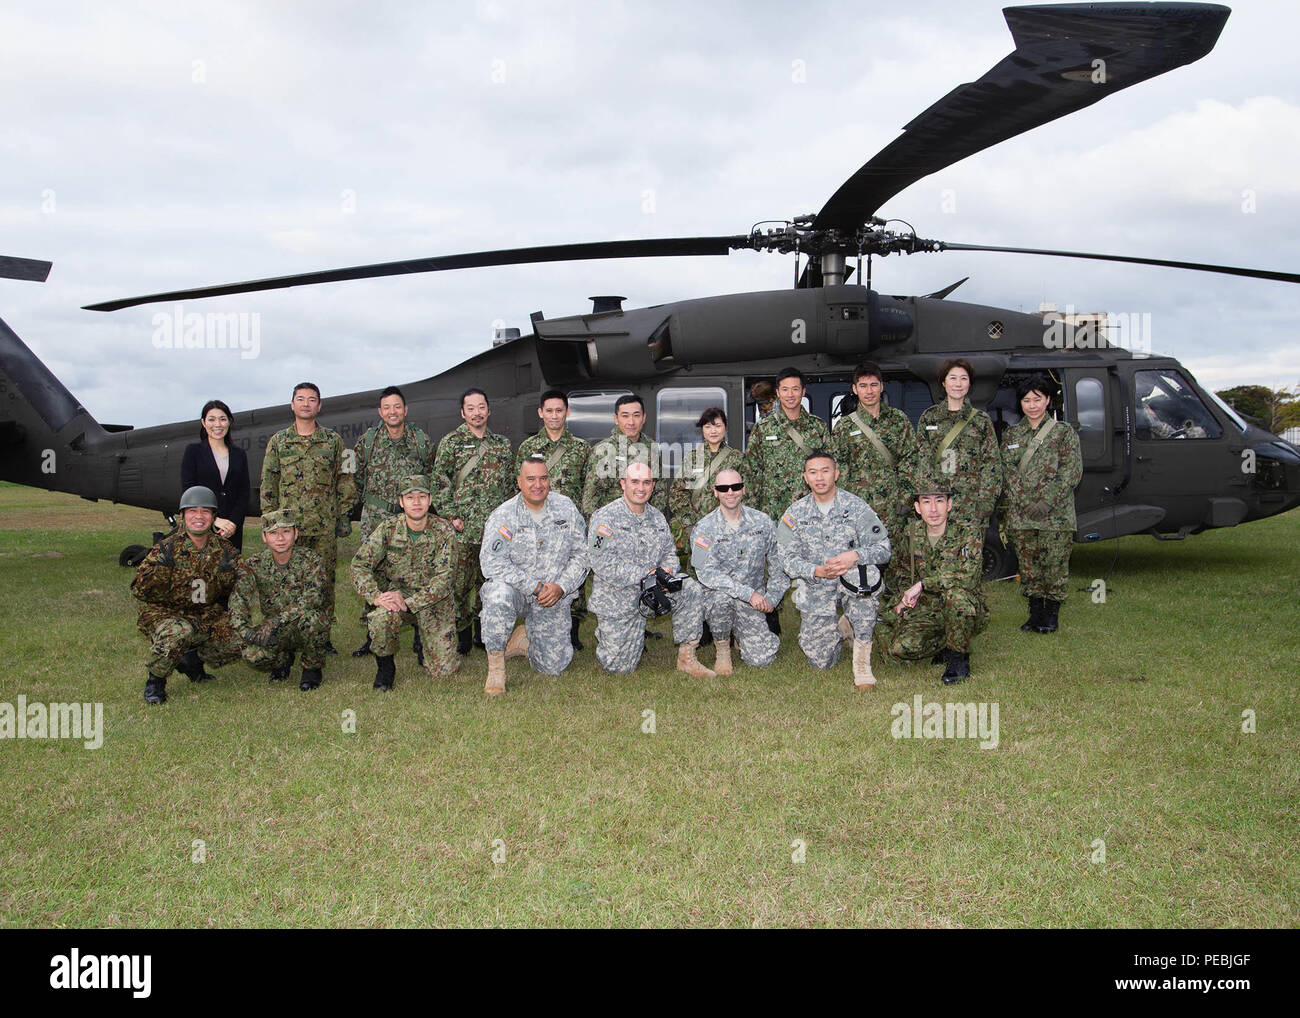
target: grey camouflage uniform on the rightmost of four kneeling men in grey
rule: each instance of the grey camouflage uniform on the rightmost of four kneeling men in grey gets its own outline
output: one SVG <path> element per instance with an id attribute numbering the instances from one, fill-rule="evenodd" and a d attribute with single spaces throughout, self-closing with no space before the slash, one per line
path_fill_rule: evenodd
<path id="1" fill-rule="evenodd" d="M 818 566 L 845 551 L 857 551 L 862 566 L 889 562 L 889 534 L 875 511 L 852 491 L 836 489 L 831 511 L 823 514 L 809 493 L 781 514 L 776 525 L 781 568 L 794 581 L 800 610 L 800 647 L 814 668 L 840 660 L 838 612 L 853 625 L 854 640 L 871 642 L 880 592 L 858 597 L 838 577 L 814 576 Z M 857 567 L 854 567 L 855 569 Z"/>

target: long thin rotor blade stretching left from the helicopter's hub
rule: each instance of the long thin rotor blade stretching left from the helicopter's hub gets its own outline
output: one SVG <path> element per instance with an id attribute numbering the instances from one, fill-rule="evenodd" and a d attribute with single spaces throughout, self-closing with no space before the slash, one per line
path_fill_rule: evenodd
<path id="1" fill-rule="evenodd" d="M 589 244 L 551 244 L 547 247 L 515 247 L 506 251 L 474 251 L 465 255 L 416 257 L 404 261 L 381 261 L 376 265 L 354 265 L 348 269 L 303 272 L 296 276 L 274 276 L 268 280 L 200 286 L 194 290 L 170 290 L 165 294 L 129 296 L 87 304 L 86 311 L 120 311 L 138 304 L 162 300 L 190 300 L 200 296 L 248 294 L 256 290 L 283 290 L 341 280 L 370 280 L 377 276 L 403 276 L 412 272 L 445 272 L 476 269 L 488 265 L 523 265 L 534 261 L 585 261 L 612 257 L 679 257 L 684 255 L 727 255 L 733 247 L 746 247 L 749 237 L 666 237 L 645 241 L 599 241 Z"/>

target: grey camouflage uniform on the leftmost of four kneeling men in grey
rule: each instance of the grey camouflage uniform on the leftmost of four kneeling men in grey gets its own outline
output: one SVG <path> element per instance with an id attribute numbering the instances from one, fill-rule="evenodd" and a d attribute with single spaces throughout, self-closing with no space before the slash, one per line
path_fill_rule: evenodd
<path id="1" fill-rule="evenodd" d="M 573 660 L 569 605 L 586 580 L 586 523 L 572 499 L 551 491 L 541 521 L 524 497 L 515 495 L 488 517 L 478 562 L 482 588 L 482 631 L 488 653 L 504 650 L 515 620 L 524 620 L 528 662 L 533 671 L 559 675 Z M 543 608 L 536 592 L 554 582 L 564 597 Z"/>

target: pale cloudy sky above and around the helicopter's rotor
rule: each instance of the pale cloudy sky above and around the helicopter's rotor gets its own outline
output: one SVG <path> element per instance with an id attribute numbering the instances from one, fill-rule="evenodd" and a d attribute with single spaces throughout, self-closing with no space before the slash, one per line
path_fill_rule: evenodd
<path id="1" fill-rule="evenodd" d="M 257 358 L 157 350 L 174 306 L 82 304 L 404 257 L 740 234 L 815 212 L 1011 49 L 1000 3 L 261 3 L 0 9 L 0 317 L 99 420 L 150 425 L 426 377 L 497 321 L 789 285 L 789 257 L 448 272 L 221 298 Z M 923 237 L 1300 270 L 1300 10 L 1234 5 L 1209 56 L 920 181 Z M 945 207 L 946 202 L 946 207 Z M 1249 211 L 1252 209 L 1253 211 Z M 1056 259 L 875 265 L 885 293 L 1150 315 L 1210 387 L 1300 384 L 1300 287 Z"/>

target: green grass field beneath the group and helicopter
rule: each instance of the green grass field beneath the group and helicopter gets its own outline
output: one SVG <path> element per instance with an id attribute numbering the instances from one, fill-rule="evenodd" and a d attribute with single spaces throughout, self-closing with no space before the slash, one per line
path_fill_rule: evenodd
<path id="1" fill-rule="evenodd" d="M 1105 603 L 1074 588 L 1117 546 L 1076 549 L 1054 637 L 1019 632 L 1015 584 L 991 585 L 975 680 L 953 688 L 878 664 L 854 693 L 848 660 L 806 666 L 786 608 L 776 664 L 728 679 L 679 675 L 670 640 L 604 675 L 589 621 L 563 677 L 511 662 L 497 701 L 481 650 L 434 681 L 407 636 L 381 696 L 346 655 L 344 579 L 321 689 L 234 664 L 174 675 L 150 707 L 117 553 L 157 521 L 0 485 L 0 702 L 100 701 L 105 723 L 95 750 L 0 741 L 0 924 L 1300 919 L 1297 514 L 1126 538 Z M 997 748 L 896 740 L 892 707 L 916 694 L 997 703 Z"/>

